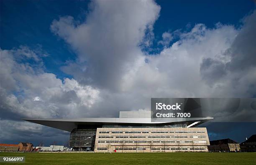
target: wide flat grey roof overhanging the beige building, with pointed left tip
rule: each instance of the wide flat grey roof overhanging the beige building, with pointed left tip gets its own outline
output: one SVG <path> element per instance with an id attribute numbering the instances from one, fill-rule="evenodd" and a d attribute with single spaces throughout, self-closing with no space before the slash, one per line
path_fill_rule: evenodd
<path id="1" fill-rule="evenodd" d="M 85 128 L 102 128 L 102 125 L 123 125 L 123 126 L 162 126 L 184 124 L 193 127 L 202 124 L 212 117 L 201 118 L 169 118 L 164 122 L 151 122 L 151 118 L 73 118 L 73 119 L 22 119 L 48 127 L 57 128 L 71 132 L 78 126 Z"/>

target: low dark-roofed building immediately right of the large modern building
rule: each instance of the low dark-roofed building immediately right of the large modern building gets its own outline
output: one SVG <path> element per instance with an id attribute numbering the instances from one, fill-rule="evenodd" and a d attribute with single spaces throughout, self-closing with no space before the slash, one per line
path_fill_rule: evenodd
<path id="1" fill-rule="evenodd" d="M 212 140 L 208 150 L 211 152 L 238 152 L 240 145 L 232 139 Z"/>

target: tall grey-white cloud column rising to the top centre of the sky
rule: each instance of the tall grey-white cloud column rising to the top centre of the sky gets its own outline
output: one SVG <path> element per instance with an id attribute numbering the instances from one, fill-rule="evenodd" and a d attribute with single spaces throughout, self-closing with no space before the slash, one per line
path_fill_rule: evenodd
<path id="1" fill-rule="evenodd" d="M 51 24 L 52 32 L 78 54 L 81 69 L 72 72 L 77 65 L 71 64 L 64 71 L 80 83 L 118 90 L 120 77 L 143 56 L 138 45 L 148 43 L 145 33 L 149 30 L 152 34 L 160 6 L 153 0 L 95 0 L 90 6 L 92 10 L 83 23 L 66 16 Z"/>

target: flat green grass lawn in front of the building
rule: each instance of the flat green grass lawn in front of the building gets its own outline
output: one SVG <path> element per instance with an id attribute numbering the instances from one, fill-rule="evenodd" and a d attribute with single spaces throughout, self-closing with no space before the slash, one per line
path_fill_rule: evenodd
<path id="1" fill-rule="evenodd" d="M 256 153 L 0 153 L 0 156 L 25 156 L 26 163 L 22 163 L 23 165 L 256 165 Z"/>

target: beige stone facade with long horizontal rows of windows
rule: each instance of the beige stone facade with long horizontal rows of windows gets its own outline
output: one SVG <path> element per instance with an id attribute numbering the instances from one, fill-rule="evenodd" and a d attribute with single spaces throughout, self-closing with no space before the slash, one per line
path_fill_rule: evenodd
<path id="1" fill-rule="evenodd" d="M 97 128 L 95 152 L 208 152 L 206 128 Z"/>

